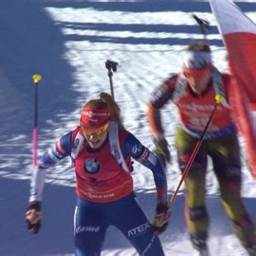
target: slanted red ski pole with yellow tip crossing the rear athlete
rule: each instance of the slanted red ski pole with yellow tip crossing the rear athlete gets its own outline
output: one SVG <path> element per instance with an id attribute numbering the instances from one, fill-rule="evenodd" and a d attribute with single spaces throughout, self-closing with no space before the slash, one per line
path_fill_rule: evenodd
<path id="1" fill-rule="evenodd" d="M 204 137 L 205 137 L 205 135 L 206 135 L 206 130 L 207 130 L 208 127 L 210 126 L 210 123 L 211 123 L 212 117 L 214 116 L 214 113 L 215 113 L 215 111 L 216 111 L 216 108 L 217 108 L 217 106 L 218 106 L 218 105 L 220 104 L 220 102 L 221 102 L 221 98 L 222 98 L 222 97 L 220 96 L 220 94 L 217 94 L 216 97 L 215 97 L 216 103 L 215 103 L 215 106 L 214 106 L 213 110 L 211 111 L 211 116 L 209 117 L 209 119 L 208 119 L 208 121 L 207 121 L 207 123 L 206 123 L 206 127 L 205 127 L 205 129 L 203 130 L 203 132 L 202 132 L 202 134 L 201 134 L 201 136 L 200 136 L 200 139 L 197 141 L 197 145 L 195 146 L 195 149 L 192 151 L 192 155 L 191 155 L 190 159 L 188 160 L 188 163 L 187 163 L 186 168 L 184 169 L 182 178 L 180 179 L 180 181 L 179 181 L 179 183 L 178 183 L 178 187 L 175 189 L 175 191 L 174 191 L 174 193 L 173 193 L 173 196 L 171 197 L 171 199 L 170 199 L 170 201 L 169 201 L 169 208 L 173 205 L 173 201 L 174 201 L 175 197 L 177 196 L 178 191 L 179 191 L 180 187 L 182 186 L 183 181 L 184 181 L 184 179 L 186 178 L 187 173 L 188 173 L 189 169 L 191 168 L 194 159 L 195 159 L 196 156 L 197 156 L 197 152 L 198 152 L 198 150 L 200 149 L 201 143 L 202 143 L 202 141 L 203 141 L 203 139 L 204 139 Z"/>

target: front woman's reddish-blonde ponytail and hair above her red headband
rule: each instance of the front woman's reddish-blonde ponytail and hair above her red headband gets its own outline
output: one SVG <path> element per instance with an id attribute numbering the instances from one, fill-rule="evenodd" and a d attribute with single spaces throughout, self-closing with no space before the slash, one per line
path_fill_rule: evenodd
<path id="1" fill-rule="evenodd" d="M 123 127 L 123 122 L 121 120 L 121 109 L 115 102 L 114 98 L 111 97 L 111 95 L 107 92 L 101 92 L 99 98 L 90 100 L 85 104 L 84 107 L 89 107 L 93 110 L 108 108 L 110 110 L 110 120 L 116 121 L 119 126 Z"/>

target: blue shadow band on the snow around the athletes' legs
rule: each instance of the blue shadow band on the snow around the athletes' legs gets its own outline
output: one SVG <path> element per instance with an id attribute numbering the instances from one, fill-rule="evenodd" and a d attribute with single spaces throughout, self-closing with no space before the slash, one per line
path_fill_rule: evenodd
<path id="1" fill-rule="evenodd" d="M 29 181 L 0 178 L 0 192 L 2 204 L 1 255 L 73 254 L 74 187 L 45 184 L 42 227 L 38 235 L 31 235 L 26 230 L 25 211 Z M 155 199 L 155 194 L 139 192 L 137 198 L 149 220 L 152 220 L 155 207 L 152 201 Z M 8 204 L 4 201 L 8 201 Z M 256 211 L 255 198 L 244 198 L 244 203 L 246 206 L 250 206 L 250 211 Z M 220 206 L 219 198 L 208 197 L 207 205 L 211 218 L 210 238 L 211 236 L 232 234 L 230 221 Z M 161 235 L 162 242 L 175 243 L 181 235 L 187 235 L 183 206 L 184 198 L 178 196 L 172 207 L 168 230 Z M 103 249 L 128 247 L 130 247 L 129 242 L 119 230 L 113 227 L 107 230 Z"/>

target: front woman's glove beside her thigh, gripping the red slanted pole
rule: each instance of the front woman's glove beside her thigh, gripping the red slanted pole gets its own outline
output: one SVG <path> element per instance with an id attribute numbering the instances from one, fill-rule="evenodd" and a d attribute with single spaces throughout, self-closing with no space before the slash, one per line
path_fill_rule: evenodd
<path id="1" fill-rule="evenodd" d="M 166 230 L 169 219 L 169 207 L 167 204 L 159 203 L 154 216 L 154 235 L 160 235 Z"/>

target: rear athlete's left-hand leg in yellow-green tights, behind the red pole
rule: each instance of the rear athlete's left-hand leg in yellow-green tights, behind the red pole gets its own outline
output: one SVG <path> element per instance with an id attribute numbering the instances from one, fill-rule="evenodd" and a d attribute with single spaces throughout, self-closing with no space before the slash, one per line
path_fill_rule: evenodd
<path id="1" fill-rule="evenodd" d="M 198 140 L 187 135 L 183 130 L 176 134 L 176 147 L 178 150 L 178 164 L 183 172 L 192 155 Z M 206 190 L 206 153 L 200 149 L 185 178 L 185 216 L 187 229 L 194 248 L 206 249 L 208 231 L 208 214 L 205 204 Z"/>

